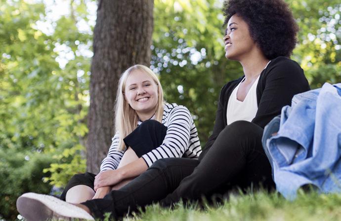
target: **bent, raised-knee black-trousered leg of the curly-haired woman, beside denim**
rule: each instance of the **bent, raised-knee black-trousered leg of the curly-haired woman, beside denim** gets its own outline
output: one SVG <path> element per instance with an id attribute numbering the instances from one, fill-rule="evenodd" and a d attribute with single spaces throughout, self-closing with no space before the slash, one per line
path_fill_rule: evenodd
<path id="1" fill-rule="evenodd" d="M 236 121 L 220 132 L 194 172 L 161 200 L 164 206 L 183 200 L 210 197 L 232 185 L 273 187 L 271 166 L 261 144 L 263 129 L 248 121 Z"/>

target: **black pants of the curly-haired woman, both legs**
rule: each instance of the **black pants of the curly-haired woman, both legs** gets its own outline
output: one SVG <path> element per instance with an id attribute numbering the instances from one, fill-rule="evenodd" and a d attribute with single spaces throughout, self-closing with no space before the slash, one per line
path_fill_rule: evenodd
<path id="1" fill-rule="evenodd" d="M 170 206 L 180 199 L 196 200 L 232 187 L 252 184 L 272 188 L 271 166 L 261 145 L 263 129 L 247 121 L 236 121 L 220 132 L 199 162 L 166 158 L 156 161 L 145 173 L 103 199 L 83 203 L 93 216 L 111 212 L 121 217 L 153 202 Z"/>

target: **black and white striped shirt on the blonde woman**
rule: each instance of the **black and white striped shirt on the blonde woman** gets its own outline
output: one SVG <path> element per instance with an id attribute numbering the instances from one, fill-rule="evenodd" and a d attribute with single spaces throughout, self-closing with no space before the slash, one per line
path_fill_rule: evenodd
<path id="1" fill-rule="evenodd" d="M 142 122 L 138 122 L 140 125 Z M 142 155 L 150 167 L 156 160 L 168 157 L 181 157 L 185 152 L 189 158 L 198 158 L 201 146 L 197 128 L 190 112 L 184 106 L 165 104 L 162 124 L 167 127 L 166 137 L 160 147 Z M 119 135 L 115 134 L 107 157 L 101 164 L 101 171 L 115 170 L 125 152 L 118 149 Z"/>

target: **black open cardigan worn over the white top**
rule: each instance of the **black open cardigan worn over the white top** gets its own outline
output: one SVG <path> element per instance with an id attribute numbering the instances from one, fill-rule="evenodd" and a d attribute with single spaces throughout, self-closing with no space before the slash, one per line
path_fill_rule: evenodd
<path id="1" fill-rule="evenodd" d="M 213 134 L 206 143 L 204 151 L 200 154 L 199 160 L 204 157 L 219 133 L 227 125 L 228 99 L 233 89 L 243 78 L 244 76 L 232 80 L 222 87 L 215 115 Z M 271 60 L 259 76 L 256 88 L 258 110 L 251 122 L 264 128 L 273 117 L 281 113 L 284 106 L 291 104 L 291 99 L 295 94 L 308 90 L 310 90 L 308 81 L 297 62 L 287 57 L 277 57 Z"/>

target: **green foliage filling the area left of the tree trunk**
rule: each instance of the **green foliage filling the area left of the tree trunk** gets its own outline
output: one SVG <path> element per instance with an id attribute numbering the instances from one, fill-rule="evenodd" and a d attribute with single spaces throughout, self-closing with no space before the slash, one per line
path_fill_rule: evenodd
<path id="1" fill-rule="evenodd" d="M 73 2 L 72 8 L 73 14 L 52 22 L 43 3 L 0 0 L 0 162 L 6 184 L 0 190 L 0 217 L 5 219 L 15 218 L 20 194 L 49 192 L 51 185 L 43 180 L 65 185 L 70 174 L 85 172 L 80 153 L 91 56 L 85 52 L 92 33 L 76 27 L 88 20 L 85 1 Z M 41 31 L 51 23 L 51 32 Z"/>

